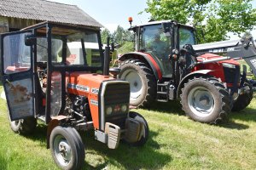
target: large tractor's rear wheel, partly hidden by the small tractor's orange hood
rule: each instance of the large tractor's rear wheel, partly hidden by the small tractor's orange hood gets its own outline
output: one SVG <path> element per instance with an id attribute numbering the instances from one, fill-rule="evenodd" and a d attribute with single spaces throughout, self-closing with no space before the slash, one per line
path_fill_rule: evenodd
<path id="1" fill-rule="evenodd" d="M 147 107 L 156 97 L 156 80 L 147 65 L 127 59 L 120 66 L 119 78 L 130 82 L 130 105 Z"/>

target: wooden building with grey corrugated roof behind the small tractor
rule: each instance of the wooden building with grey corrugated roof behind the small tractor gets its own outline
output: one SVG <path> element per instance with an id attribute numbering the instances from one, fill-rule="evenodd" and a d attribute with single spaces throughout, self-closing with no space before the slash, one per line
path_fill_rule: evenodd
<path id="1" fill-rule="evenodd" d="M 0 33 L 18 31 L 42 21 L 102 27 L 75 5 L 46 0 L 0 0 Z"/>

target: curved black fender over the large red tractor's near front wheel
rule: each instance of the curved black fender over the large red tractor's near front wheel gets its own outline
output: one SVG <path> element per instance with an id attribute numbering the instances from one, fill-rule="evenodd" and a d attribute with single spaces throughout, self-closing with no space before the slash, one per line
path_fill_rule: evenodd
<path id="1" fill-rule="evenodd" d="M 185 82 L 189 81 L 190 77 L 200 77 L 207 75 L 209 72 L 212 72 L 212 70 L 201 70 L 201 71 L 194 71 L 189 73 L 187 76 L 183 77 L 183 79 L 179 82 L 177 87 L 177 99 L 179 98 L 180 94 L 182 93 L 183 84 Z"/>

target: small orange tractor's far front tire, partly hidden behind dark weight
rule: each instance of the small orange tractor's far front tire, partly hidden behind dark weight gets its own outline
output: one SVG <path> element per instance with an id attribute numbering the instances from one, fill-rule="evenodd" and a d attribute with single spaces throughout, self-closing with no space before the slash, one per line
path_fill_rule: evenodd
<path id="1" fill-rule="evenodd" d="M 129 143 L 127 141 L 126 142 L 128 144 L 131 144 L 132 146 L 143 146 L 148 141 L 148 133 L 149 133 L 148 122 L 142 115 L 134 111 L 129 112 L 129 117 L 137 120 L 138 122 L 141 122 L 143 125 L 143 128 L 142 128 L 142 131 L 140 132 L 140 139 L 137 142 L 134 142 L 134 143 Z"/>

